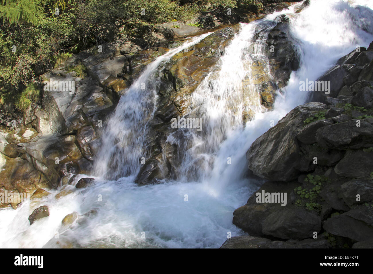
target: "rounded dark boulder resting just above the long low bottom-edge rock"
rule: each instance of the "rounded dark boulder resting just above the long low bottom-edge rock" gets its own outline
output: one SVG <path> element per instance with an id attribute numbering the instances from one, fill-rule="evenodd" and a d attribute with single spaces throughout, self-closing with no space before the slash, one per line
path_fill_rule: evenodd
<path id="1" fill-rule="evenodd" d="M 263 221 L 263 234 L 280 239 L 302 240 L 320 232 L 321 218 L 304 208 L 285 208 L 270 214 Z"/>

